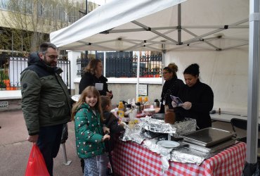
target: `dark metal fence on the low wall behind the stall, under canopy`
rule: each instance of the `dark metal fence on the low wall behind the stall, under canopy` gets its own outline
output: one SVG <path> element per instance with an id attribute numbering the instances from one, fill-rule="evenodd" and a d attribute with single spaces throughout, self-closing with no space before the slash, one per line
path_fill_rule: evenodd
<path id="1" fill-rule="evenodd" d="M 97 53 L 104 65 L 104 54 Z M 77 59 L 77 75 L 84 74 L 84 68 L 90 59 Z M 106 77 L 136 77 L 137 58 L 132 56 L 132 52 L 107 52 L 106 53 Z M 162 77 L 162 56 L 143 56 L 140 59 L 140 77 Z"/>

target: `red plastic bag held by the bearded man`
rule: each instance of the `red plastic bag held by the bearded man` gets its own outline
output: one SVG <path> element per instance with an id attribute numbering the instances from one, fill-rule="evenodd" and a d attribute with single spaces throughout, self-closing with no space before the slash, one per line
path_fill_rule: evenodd
<path id="1" fill-rule="evenodd" d="M 25 176 L 49 176 L 44 157 L 37 144 L 33 144 L 28 159 Z"/>

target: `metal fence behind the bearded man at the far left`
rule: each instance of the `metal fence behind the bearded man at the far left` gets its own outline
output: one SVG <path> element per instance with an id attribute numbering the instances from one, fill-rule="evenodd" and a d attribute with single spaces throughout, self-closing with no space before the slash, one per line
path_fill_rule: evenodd
<path id="1" fill-rule="evenodd" d="M 27 58 L 0 56 L 0 90 L 18 90 L 21 87 L 20 73 L 27 68 Z M 58 60 L 58 67 L 63 69 L 60 76 L 71 89 L 70 61 Z"/>

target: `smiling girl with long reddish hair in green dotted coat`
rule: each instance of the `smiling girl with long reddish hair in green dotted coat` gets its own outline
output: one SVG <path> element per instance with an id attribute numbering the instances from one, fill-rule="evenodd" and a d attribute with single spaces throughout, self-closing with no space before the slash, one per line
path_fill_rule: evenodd
<path id="1" fill-rule="evenodd" d="M 99 175 L 99 157 L 105 154 L 105 139 L 110 139 L 107 127 L 103 127 L 100 94 L 95 87 L 84 89 L 79 101 L 72 108 L 72 120 L 76 135 L 76 148 L 79 158 L 84 158 L 84 176 Z M 103 135 L 105 134 L 105 135 Z"/>

